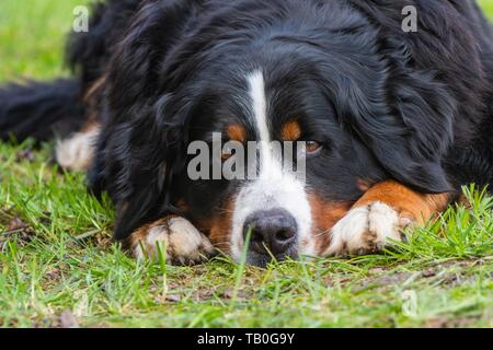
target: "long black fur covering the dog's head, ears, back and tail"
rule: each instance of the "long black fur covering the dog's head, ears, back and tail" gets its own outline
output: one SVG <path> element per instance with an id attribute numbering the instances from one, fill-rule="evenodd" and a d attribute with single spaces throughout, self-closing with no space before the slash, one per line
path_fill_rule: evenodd
<path id="1" fill-rule="evenodd" d="M 401 28 L 405 5 L 417 33 Z M 74 78 L 1 90 L 0 131 L 46 140 L 48 126 L 72 116 L 76 130 L 95 110 L 90 187 L 115 201 L 117 240 L 180 212 L 184 188 L 196 218 L 232 191 L 187 183 L 186 145 L 237 113 L 221 96 L 255 66 L 285 102 L 274 119 L 306 115 L 307 139 L 324 142 L 309 180 L 326 198 L 358 198 L 355 177 L 427 194 L 493 184 L 493 31 L 474 1 L 107 0 L 92 12 L 69 39 Z"/>

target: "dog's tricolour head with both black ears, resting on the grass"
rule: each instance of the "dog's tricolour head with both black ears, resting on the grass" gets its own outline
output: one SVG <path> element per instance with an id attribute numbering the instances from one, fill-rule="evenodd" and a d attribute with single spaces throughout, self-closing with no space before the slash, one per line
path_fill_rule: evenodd
<path id="1" fill-rule="evenodd" d="M 216 13 L 186 38 L 175 13 L 151 4 L 128 31 L 107 80 L 111 132 L 101 141 L 117 238 L 175 212 L 236 258 L 250 236 L 248 260 L 264 265 L 323 252 L 331 228 L 376 182 L 448 190 L 439 160 L 454 106 L 432 77 L 408 69 L 400 44 L 383 54 L 378 31 L 345 7 L 320 15 L 252 3 Z M 303 174 L 284 166 L 286 153 Z M 225 176 L 238 167 L 244 176 Z"/>

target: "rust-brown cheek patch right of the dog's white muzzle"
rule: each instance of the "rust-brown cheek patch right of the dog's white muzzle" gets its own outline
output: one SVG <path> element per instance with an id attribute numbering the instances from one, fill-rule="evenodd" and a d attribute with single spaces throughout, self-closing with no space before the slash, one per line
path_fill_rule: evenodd
<path id="1" fill-rule="evenodd" d="M 316 243 L 316 252 L 325 250 L 331 243 L 331 230 L 351 209 L 352 202 L 331 202 L 310 196 L 312 217 L 312 237 Z"/>

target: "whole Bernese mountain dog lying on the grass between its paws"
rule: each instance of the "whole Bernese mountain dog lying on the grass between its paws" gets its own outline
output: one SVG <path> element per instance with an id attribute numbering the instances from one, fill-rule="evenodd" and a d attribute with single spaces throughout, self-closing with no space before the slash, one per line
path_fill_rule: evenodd
<path id="1" fill-rule="evenodd" d="M 1 89 L 0 135 L 56 138 L 138 258 L 370 254 L 461 186 L 492 184 L 493 30 L 473 0 L 106 0 L 91 13 L 68 40 L 72 78 Z M 254 178 L 192 178 L 190 145 L 213 135 L 303 144 L 305 176 L 260 147 L 210 154 L 253 155 Z"/>

